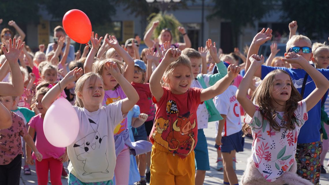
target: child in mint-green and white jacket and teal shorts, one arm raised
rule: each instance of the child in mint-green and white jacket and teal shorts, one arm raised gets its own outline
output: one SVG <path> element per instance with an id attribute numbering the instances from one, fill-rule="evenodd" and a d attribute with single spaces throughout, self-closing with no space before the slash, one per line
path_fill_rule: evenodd
<path id="1" fill-rule="evenodd" d="M 227 68 L 222 61 L 217 57 L 216 43 L 214 45 L 211 39 L 206 41 L 207 48 L 211 56 L 214 58 L 215 64 L 218 67 L 217 74 L 206 74 L 207 73 L 207 61 L 206 55 L 207 50 L 203 47 L 199 47 L 199 52 L 192 48 L 185 48 L 182 51 L 182 55 L 186 55 L 190 59 L 193 79 L 191 82 L 191 88 L 206 89 L 214 85 L 218 80 L 223 78 L 227 74 Z M 202 73 L 200 73 L 200 69 Z M 208 109 L 207 109 L 208 108 Z M 200 104 L 196 111 L 198 120 L 198 144 L 194 148 L 195 154 L 195 185 L 202 185 L 206 175 L 206 171 L 210 170 L 209 165 L 209 154 L 207 139 L 204 135 L 203 129 L 208 127 L 208 122 L 222 119 L 219 112 L 215 108 L 212 99 L 206 100 L 205 103 Z M 210 120 L 209 120 L 210 119 Z"/>

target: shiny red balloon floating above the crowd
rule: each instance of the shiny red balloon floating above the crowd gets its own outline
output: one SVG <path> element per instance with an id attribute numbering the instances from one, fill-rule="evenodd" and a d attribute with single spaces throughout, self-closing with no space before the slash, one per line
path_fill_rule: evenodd
<path id="1" fill-rule="evenodd" d="M 74 41 L 85 44 L 91 37 L 91 23 L 86 13 L 81 10 L 70 10 L 63 16 L 65 33 Z"/>

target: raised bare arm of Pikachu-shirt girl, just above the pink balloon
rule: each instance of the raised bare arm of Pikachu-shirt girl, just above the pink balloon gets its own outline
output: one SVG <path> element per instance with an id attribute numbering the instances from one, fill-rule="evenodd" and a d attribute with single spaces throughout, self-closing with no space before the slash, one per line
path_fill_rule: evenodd
<path id="1" fill-rule="evenodd" d="M 59 81 L 54 87 L 52 87 L 46 95 L 42 98 L 42 105 L 48 109 L 50 105 L 58 98 L 62 93 L 63 89 L 67 87 L 71 82 L 77 81 L 83 75 L 82 68 L 75 67 L 73 70 L 68 72 L 65 77 Z"/>

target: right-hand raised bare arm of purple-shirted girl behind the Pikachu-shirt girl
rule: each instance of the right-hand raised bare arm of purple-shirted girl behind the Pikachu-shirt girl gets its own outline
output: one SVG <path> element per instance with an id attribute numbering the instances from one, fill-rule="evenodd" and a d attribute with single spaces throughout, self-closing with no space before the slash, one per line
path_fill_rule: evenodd
<path id="1" fill-rule="evenodd" d="M 110 47 L 113 47 L 115 49 L 115 51 L 122 57 L 123 61 L 127 64 L 127 67 L 124 71 L 124 77 L 129 83 L 131 83 L 134 78 L 135 62 L 130 57 L 130 55 L 119 45 L 119 42 L 118 40 L 116 40 L 115 36 L 110 35 L 109 39 L 110 40 L 106 39 L 105 41 L 109 44 Z"/>

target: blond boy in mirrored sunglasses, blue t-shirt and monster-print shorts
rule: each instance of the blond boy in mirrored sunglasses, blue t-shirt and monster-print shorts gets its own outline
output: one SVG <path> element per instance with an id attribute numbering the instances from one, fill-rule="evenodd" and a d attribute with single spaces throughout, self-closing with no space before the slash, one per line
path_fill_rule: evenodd
<path id="1" fill-rule="evenodd" d="M 263 28 L 262 31 L 259 32 L 251 42 L 247 59 L 249 59 L 252 54 L 258 53 L 260 46 L 271 38 L 272 30 L 267 28 L 267 30 L 265 31 L 265 28 Z M 302 56 L 306 61 L 311 61 L 313 56 L 311 47 L 312 42 L 308 37 L 302 35 L 294 35 L 287 42 L 287 52 L 285 53 L 285 56 L 293 53 L 294 55 Z M 247 60 L 246 71 L 248 70 L 250 64 L 250 61 Z M 290 64 L 290 67 L 291 68 L 271 67 L 263 65 L 257 69 L 254 76 L 263 79 L 270 71 L 273 71 L 275 69 L 282 69 L 289 73 L 292 79 L 292 84 L 299 91 L 299 93 L 301 93 L 302 98 L 306 98 L 316 88 L 314 81 L 308 75 L 308 73 L 304 69 L 302 69 L 300 65 Z M 317 70 L 327 79 L 329 79 L 328 69 Z M 305 122 L 304 126 L 300 129 L 300 133 L 297 139 L 297 174 L 302 176 L 303 178 L 310 180 L 314 184 L 319 184 L 321 169 L 320 153 L 322 150 L 322 143 L 320 142 L 319 132 L 319 129 L 321 128 L 320 112 L 321 101 L 318 101 L 317 104 L 311 110 L 308 111 L 308 116 L 312 119 L 307 120 Z"/>

